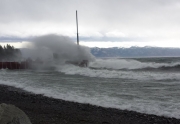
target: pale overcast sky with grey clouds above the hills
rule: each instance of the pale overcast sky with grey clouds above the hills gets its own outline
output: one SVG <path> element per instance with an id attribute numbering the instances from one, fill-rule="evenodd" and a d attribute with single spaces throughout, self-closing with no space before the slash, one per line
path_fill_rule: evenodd
<path id="1" fill-rule="evenodd" d="M 88 47 L 180 47 L 180 0 L 0 0 L 0 44 L 58 34 Z"/>

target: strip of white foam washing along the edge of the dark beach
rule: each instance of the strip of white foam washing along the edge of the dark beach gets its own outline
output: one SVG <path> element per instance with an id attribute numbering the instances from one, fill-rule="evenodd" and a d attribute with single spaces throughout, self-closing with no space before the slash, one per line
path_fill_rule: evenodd
<path id="1" fill-rule="evenodd" d="M 35 94 L 43 94 L 44 96 L 53 97 L 56 99 L 63 99 L 66 101 L 75 101 L 79 103 L 89 103 L 92 105 L 102 106 L 102 107 L 110 107 L 117 108 L 122 110 L 133 110 L 140 113 L 147 114 L 155 114 L 160 116 L 167 117 L 175 117 L 180 119 L 180 110 L 178 109 L 179 105 L 175 105 L 176 107 L 162 107 L 161 104 L 156 101 L 146 101 L 146 100 L 125 100 L 125 99 L 117 99 L 104 95 L 86 95 L 76 91 L 69 92 L 59 92 L 58 90 L 52 88 L 36 88 L 28 85 L 23 85 L 22 83 L 16 82 L 8 82 L 0 80 L 0 84 L 14 86 L 17 88 L 24 89 L 29 92 L 33 92 Z M 172 106 L 172 105 L 170 105 Z"/>

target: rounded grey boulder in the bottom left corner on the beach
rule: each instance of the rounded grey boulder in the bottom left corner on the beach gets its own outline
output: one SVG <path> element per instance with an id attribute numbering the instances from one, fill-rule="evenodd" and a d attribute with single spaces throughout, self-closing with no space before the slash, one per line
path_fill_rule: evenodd
<path id="1" fill-rule="evenodd" d="M 0 104 L 0 124 L 31 124 L 27 115 L 14 105 Z"/>

